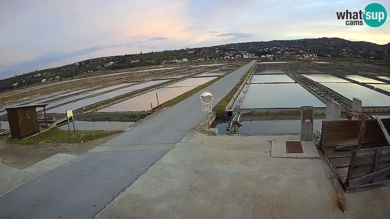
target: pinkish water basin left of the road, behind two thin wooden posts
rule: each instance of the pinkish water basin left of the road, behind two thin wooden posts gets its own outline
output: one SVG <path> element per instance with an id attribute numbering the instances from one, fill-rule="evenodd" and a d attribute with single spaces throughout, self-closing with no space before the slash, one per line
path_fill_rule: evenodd
<path id="1" fill-rule="evenodd" d="M 170 87 L 170 88 L 159 88 L 157 90 L 148 92 L 146 94 L 133 97 L 127 101 L 123 101 L 112 105 L 110 107 L 99 110 L 99 112 L 123 112 L 123 111 L 147 111 L 151 109 L 150 103 L 153 107 L 156 107 L 156 92 L 158 93 L 158 101 L 160 104 L 167 102 L 185 92 L 192 90 L 197 86 L 192 87 Z"/>

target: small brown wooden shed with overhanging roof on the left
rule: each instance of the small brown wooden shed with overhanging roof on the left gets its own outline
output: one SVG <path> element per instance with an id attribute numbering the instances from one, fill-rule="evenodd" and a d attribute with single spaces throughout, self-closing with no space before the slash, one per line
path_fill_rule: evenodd
<path id="1" fill-rule="evenodd" d="M 7 107 L 9 129 L 11 130 L 11 137 L 27 138 L 33 134 L 39 133 L 39 125 L 37 118 L 37 107 L 45 107 L 48 104 L 34 104 Z M 45 120 L 46 120 L 46 110 Z M 47 125 L 47 122 L 46 122 Z"/>

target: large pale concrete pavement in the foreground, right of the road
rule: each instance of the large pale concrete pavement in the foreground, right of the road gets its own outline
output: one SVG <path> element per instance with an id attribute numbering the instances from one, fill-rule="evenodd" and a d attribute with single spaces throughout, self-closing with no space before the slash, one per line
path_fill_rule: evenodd
<path id="1" fill-rule="evenodd" d="M 271 141 L 297 138 L 193 130 L 98 219 L 389 217 L 388 187 L 344 194 L 326 161 L 271 157 Z"/>

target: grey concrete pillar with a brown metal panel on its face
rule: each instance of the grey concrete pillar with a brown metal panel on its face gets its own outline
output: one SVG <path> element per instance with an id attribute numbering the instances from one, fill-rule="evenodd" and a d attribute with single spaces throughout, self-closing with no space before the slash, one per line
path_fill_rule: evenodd
<path id="1" fill-rule="evenodd" d="M 313 140 L 314 107 L 301 107 L 301 141 Z"/>

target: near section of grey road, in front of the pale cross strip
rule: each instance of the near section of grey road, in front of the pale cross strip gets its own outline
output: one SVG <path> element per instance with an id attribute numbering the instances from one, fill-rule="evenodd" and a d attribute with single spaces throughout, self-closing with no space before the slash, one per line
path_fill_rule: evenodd
<path id="1" fill-rule="evenodd" d="M 0 218 L 92 218 L 168 150 L 88 152 L 0 198 Z"/>

